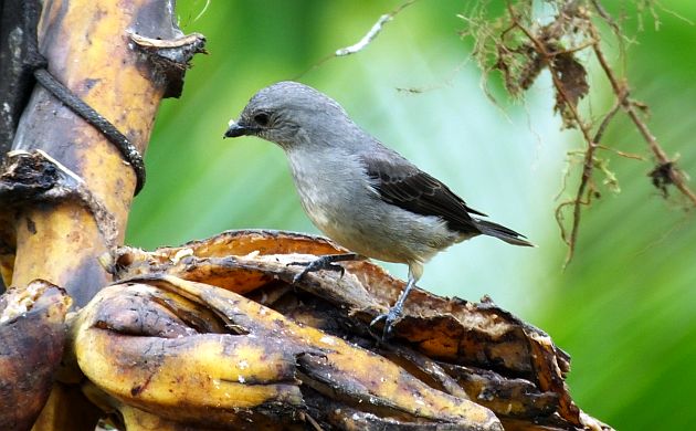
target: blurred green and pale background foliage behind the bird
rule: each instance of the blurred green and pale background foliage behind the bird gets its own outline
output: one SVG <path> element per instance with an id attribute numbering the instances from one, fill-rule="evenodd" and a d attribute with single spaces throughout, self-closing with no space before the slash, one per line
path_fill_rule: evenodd
<path id="1" fill-rule="evenodd" d="M 187 74 L 180 99 L 165 101 L 146 161 L 148 183 L 135 201 L 127 241 L 152 249 L 225 229 L 317 232 L 296 198 L 284 155 L 254 138 L 222 140 L 228 120 L 251 95 L 295 78 L 339 101 L 356 122 L 421 168 L 447 182 L 492 220 L 526 233 L 538 249 L 475 239 L 441 253 L 420 285 L 500 305 L 547 330 L 573 360 L 569 383 L 587 412 L 616 429 L 689 429 L 696 387 L 696 228 L 678 196 L 651 186 L 650 162 L 610 153 L 622 191 L 602 189 L 583 211 L 578 252 L 566 271 L 566 249 L 553 219 L 566 151 L 582 148 L 559 132 L 551 85 L 542 76 L 524 105 L 491 103 L 457 36 L 463 1 L 420 1 L 384 27 L 362 52 L 319 65 L 357 42 L 399 1 L 179 1 L 180 27 L 208 39 Z M 470 4 L 471 6 L 471 4 Z M 651 106 L 650 126 L 671 155 L 696 176 L 696 3 L 626 11 L 625 73 L 633 95 Z M 673 13 L 674 12 L 674 13 Z M 623 72 L 618 43 L 607 39 Z M 611 104 L 593 72 L 594 115 Z M 397 88 L 419 88 L 418 93 Z M 497 92 L 496 92 L 497 94 Z M 625 118 L 604 143 L 646 154 Z M 576 166 L 576 169 L 578 166 Z M 573 170 L 572 178 L 579 171 Z M 573 181 L 571 183 L 574 185 Z M 574 186 L 571 186 L 569 192 Z M 403 265 L 387 265 L 403 277 Z"/>

